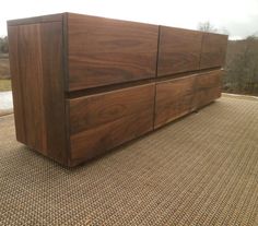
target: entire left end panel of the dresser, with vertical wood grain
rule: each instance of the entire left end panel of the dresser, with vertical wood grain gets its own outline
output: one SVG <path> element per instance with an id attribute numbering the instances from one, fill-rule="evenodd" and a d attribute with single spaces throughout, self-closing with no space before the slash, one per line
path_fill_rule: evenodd
<path id="1" fill-rule="evenodd" d="M 9 26 L 17 140 L 66 164 L 62 26 Z"/>

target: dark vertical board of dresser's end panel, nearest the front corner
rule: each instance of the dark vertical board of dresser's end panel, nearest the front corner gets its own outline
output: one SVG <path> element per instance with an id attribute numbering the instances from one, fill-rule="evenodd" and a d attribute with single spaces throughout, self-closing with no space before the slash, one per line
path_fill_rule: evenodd
<path id="1" fill-rule="evenodd" d="M 67 162 L 67 124 L 62 63 L 62 24 L 42 23 L 42 64 L 47 155 Z"/>

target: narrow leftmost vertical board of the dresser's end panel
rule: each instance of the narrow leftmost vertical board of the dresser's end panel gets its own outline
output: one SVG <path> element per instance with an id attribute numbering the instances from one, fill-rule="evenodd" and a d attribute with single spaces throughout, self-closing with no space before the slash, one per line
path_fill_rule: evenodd
<path id="1" fill-rule="evenodd" d="M 22 143 L 26 143 L 22 78 L 19 70 L 17 55 L 19 26 L 8 27 L 8 39 L 16 139 Z"/>

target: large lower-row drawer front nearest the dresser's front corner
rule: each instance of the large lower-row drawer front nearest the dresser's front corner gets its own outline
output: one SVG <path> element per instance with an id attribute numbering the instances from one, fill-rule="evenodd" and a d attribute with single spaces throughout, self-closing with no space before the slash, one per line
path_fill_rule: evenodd
<path id="1" fill-rule="evenodd" d="M 153 130 L 155 85 L 67 100 L 71 159 L 93 158 Z"/>

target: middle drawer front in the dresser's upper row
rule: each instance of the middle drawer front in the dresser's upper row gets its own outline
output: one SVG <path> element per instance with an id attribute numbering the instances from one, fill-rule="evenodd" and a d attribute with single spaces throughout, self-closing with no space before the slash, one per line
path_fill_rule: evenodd
<path id="1" fill-rule="evenodd" d="M 157 76 L 199 69 L 202 33 L 161 26 Z"/>

